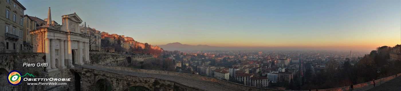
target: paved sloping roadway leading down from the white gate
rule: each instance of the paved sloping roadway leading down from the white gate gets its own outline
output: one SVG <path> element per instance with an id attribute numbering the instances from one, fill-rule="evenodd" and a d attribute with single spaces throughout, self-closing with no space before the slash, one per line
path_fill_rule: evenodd
<path id="1" fill-rule="evenodd" d="M 237 89 L 235 87 L 230 87 L 227 85 L 223 85 L 220 83 L 205 81 L 201 79 L 193 79 L 190 77 L 183 76 L 174 76 L 174 75 L 164 75 L 164 74 L 152 74 L 152 73 L 142 73 L 142 72 L 131 72 L 125 70 L 116 70 L 110 68 L 101 68 L 89 65 L 82 65 L 82 68 L 88 68 L 93 70 L 100 70 L 115 74 L 124 74 L 126 76 L 136 76 L 136 77 L 150 77 L 157 78 L 162 80 L 174 81 L 176 83 L 180 83 L 182 85 L 194 87 L 196 89 L 204 90 L 204 91 L 243 91 L 241 89 Z"/>

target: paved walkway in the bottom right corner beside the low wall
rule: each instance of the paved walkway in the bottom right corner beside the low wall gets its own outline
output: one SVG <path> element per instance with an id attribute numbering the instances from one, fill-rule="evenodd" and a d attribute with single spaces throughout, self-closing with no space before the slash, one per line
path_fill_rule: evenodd
<path id="1" fill-rule="evenodd" d="M 376 87 L 369 85 L 354 89 L 353 91 L 401 91 L 401 77 L 396 77 L 390 81 L 381 81 L 381 84 L 380 81 L 378 81 L 376 82 Z"/>

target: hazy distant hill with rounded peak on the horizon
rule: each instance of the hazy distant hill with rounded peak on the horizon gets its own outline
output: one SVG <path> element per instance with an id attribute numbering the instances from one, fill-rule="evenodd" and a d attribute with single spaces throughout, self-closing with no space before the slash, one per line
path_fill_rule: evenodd
<path id="1" fill-rule="evenodd" d="M 209 45 L 187 45 L 181 43 L 168 43 L 166 45 L 158 45 L 164 50 L 221 50 L 223 47 Z"/>

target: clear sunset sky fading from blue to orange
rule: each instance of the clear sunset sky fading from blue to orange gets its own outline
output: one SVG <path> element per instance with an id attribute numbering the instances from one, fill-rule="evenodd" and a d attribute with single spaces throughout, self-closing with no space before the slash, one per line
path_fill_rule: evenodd
<path id="1" fill-rule="evenodd" d="M 61 23 L 76 14 L 98 31 L 141 43 L 375 50 L 401 44 L 400 0 L 19 0 Z"/>

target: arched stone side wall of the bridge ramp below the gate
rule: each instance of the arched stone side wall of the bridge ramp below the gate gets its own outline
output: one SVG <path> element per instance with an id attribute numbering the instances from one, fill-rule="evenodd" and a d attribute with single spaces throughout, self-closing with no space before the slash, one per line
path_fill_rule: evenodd
<path id="1" fill-rule="evenodd" d="M 199 91 L 192 87 L 188 87 L 173 81 L 166 81 L 148 77 L 127 76 L 126 74 L 114 74 L 99 70 L 82 68 L 82 70 L 74 70 L 81 76 L 81 90 L 93 91 L 97 90 L 96 84 L 100 79 L 106 80 L 111 84 L 112 91 L 127 91 L 131 86 L 143 86 L 151 91 Z M 154 84 L 154 81 L 160 84 Z M 174 86 L 179 88 L 175 88 Z"/>

